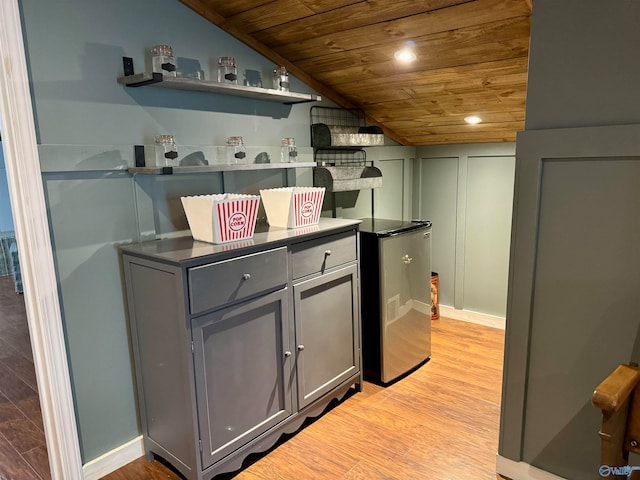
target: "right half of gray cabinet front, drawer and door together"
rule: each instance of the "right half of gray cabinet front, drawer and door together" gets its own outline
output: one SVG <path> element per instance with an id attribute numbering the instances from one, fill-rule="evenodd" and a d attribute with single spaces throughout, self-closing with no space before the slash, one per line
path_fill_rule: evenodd
<path id="1" fill-rule="evenodd" d="M 357 246 L 346 232 L 290 249 L 299 408 L 360 371 Z"/>

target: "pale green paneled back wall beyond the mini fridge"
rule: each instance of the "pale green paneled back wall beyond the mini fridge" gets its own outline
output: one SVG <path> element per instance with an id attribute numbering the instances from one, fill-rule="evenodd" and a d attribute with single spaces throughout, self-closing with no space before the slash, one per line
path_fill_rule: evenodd
<path id="1" fill-rule="evenodd" d="M 419 147 L 414 214 L 433 222 L 440 303 L 505 317 L 514 144 Z"/>

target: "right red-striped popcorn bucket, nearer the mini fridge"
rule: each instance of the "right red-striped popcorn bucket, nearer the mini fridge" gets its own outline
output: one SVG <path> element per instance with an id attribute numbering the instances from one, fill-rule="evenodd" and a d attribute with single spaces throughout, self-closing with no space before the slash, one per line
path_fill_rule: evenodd
<path id="1" fill-rule="evenodd" d="M 284 187 L 260 190 L 272 227 L 300 228 L 317 225 L 322 211 L 324 187 Z"/>

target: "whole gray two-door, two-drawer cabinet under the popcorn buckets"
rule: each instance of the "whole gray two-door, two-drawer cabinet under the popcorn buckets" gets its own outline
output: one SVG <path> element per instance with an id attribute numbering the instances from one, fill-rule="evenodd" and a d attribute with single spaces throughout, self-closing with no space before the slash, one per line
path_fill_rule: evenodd
<path id="1" fill-rule="evenodd" d="M 149 457 L 207 480 L 360 390 L 358 223 L 121 247 Z"/>

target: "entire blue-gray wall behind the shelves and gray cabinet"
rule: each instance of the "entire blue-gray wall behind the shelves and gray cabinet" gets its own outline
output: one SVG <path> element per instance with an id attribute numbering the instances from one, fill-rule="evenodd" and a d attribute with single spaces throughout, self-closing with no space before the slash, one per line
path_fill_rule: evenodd
<path id="1" fill-rule="evenodd" d="M 118 245 L 186 229 L 181 195 L 311 183 L 310 169 L 290 178 L 283 171 L 132 177 L 126 168 L 133 145 L 169 133 L 183 152 L 223 145 L 232 135 L 278 149 L 282 137 L 294 137 L 310 155 L 311 104 L 119 85 L 122 56 L 143 71 L 145 51 L 159 43 L 174 48 L 178 67 L 180 57 L 199 61 L 207 79 L 211 61 L 223 55 L 236 57 L 240 72 L 261 70 L 268 78 L 270 61 L 175 0 L 23 0 L 21 7 L 86 463 L 139 435 Z M 312 92 L 295 78 L 291 84 Z"/>

